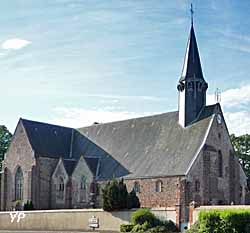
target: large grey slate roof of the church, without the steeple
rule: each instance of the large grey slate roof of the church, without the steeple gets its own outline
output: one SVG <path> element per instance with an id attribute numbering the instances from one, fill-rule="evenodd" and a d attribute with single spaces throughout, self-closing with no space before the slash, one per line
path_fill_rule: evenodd
<path id="1" fill-rule="evenodd" d="M 77 130 L 23 119 L 22 122 L 36 153 L 76 161 L 83 155 L 93 174 L 99 171 L 100 180 L 114 176 L 174 176 L 186 174 L 218 109 L 216 106 L 206 106 L 199 119 L 186 128 L 179 125 L 178 112 Z M 74 166 L 74 162 L 65 163 L 70 173 Z"/>

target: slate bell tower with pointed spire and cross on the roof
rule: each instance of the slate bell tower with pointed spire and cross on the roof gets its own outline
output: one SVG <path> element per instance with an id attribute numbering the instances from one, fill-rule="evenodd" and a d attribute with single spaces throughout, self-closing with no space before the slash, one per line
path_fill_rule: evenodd
<path id="1" fill-rule="evenodd" d="M 179 92 L 179 124 L 186 127 L 194 122 L 206 106 L 208 85 L 204 80 L 198 46 L 193 26 L 191 4 L 191 29 L 188 38 L 181 78 L 177 85 Z"/>

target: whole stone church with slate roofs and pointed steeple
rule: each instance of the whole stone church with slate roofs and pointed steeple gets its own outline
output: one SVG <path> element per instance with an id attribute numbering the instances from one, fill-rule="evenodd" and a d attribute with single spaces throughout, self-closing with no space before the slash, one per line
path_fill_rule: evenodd
<path id="1" fill-rule="evenodd" d="M 220 104 L 206 105 L 191 26 L 178 80 L 178 111 L 79 129 L 20 119 L 3 162 L 1 210 L 99 207 L 101 186 L 124 178 L 142 207 L 244 204 L 246 176 Z"/>

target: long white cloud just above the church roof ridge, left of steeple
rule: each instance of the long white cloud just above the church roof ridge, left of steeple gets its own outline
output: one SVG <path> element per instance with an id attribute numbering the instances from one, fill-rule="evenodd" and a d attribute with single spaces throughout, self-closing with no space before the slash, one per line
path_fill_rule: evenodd
<path id="1" fill-rule="evenodd" d="M 152 112 L 135 113 L 128 111 L 110 111 L 106 109 L 55 108 L 53 124 L 79 128 L 92 125 L 94 122 L 106 123 L 152 115 Z"/>

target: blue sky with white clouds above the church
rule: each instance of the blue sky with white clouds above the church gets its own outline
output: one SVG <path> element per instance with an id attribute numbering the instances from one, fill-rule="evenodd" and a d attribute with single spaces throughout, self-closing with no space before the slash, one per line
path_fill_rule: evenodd
<path id="1" fill-rule="evenodd" d="M 250 133 L 250 1 L 195 0 L 208 103 L 220 88 L 230 133 Z M 0 124 L 80 127 L 177 109 L 190 1 L 1 3 Z"/>

